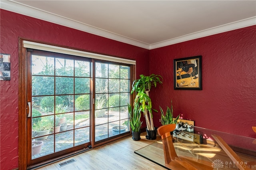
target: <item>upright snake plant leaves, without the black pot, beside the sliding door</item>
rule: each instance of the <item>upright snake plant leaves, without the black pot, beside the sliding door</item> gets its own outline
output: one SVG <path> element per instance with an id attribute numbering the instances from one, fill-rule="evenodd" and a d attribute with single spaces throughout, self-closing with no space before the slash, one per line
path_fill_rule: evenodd
<path id="1" fill-rule="evenodd" d="M 128 112 L 130 115 L 130 126 L 133 132 L 140 132 L 142 122 L 140 121 L 140 109 L 138 103 L 135 103 L 132 110 L 131 105 L 128 104 Z"/>

